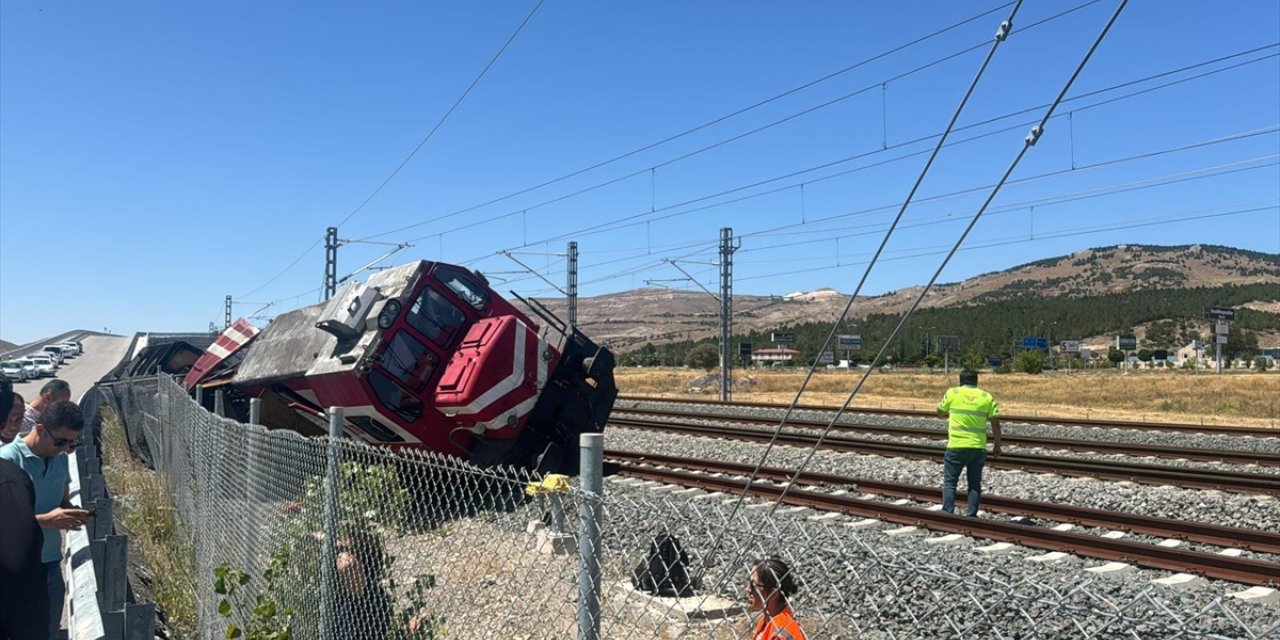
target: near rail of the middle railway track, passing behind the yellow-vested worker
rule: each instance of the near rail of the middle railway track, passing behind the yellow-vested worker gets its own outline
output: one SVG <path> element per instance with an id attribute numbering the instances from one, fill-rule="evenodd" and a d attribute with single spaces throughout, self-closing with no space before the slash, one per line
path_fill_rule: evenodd
<path id="1" fill-rule="evenodd" d="M 769 442 L 771 431 L 749 428 L 691 425 L 669 421 L 634 420 L 611 417 L 611 428 L 646 429 L 653 431 L 699 435 L 707 438 L 726 438 L 745 442 Z M 815 434 L 783 431 L 778 434 L 778 444 L 813 447 Z M 940 460 L 942 449 L 931 444 L 914 444 L 886 440 L 868 440 L 844 436 L 828 436 L 822 447 L 829 451 L 904 457 L 916 460 Z M 987 458 L 987 466 L 993 468 L 1016 468 L 1038 474 L 1059 474 L 1066 476 L 1087 476 L 1107 480 L 1129 480 L 1134 483 L 1174 485 L 1194 489 L 1217 489 L 1233 493 L 1261 493 L 1280 495 L 1280 475 L 1243 474 L 1224 470 L 1180 468 L 1162 465 L 1120 463 L 1114 461 L 1091 462 L 1079 458 L 1059 456 L 1029 456 L 1004 453 Z"/>

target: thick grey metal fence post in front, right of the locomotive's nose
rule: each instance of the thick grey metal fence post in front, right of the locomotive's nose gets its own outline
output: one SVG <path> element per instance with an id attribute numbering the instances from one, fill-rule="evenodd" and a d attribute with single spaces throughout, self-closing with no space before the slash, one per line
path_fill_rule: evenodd
<path id="1" fill-rule="evenodd" d="M 604 511 L 604 434 L 581 434 L 581 488 L 577 536 L 577 637 L 600 637 L 600 516 Z"/>

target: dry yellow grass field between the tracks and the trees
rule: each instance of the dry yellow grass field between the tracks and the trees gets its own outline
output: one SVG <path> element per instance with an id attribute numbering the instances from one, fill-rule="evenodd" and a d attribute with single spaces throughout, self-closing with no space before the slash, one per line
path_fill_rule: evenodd
<path id="1" fill-rule="evenodd" d="M 840 406 L 863 371 L 820 370 L 801 399 L 805 404 Z M 690 392 L 704 379 L 689 369 L 621 369 L 623 394 L 716 397 L 714 385 Z M 733 399 L 790 402 L 804 371 L 735 370 Z M 928 410 L 956 383 L 955 372 L 873 372 L 854 402 L 855 407 Z M 1005 413 L 1053 417 L 1094 417 L 1152 422 L 1280 426 L 1280 372 L 1226 372 L 1116 370 L 1074 372 L 983 374 L 979 385 L 996 396 Z"/>

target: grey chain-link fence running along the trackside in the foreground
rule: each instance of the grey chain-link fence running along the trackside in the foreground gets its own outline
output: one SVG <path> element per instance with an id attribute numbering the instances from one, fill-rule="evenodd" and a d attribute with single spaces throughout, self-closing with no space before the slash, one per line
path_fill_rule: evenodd
<path id="1" fill-rule="evenodd" d="M 1078 568 L 1019 576 L 977 554 L 957 568 L 882 547 L 847 518 L 769 516 L 735 509 L 728 495 L 617 477 L 595 493 L 577 480 L 269 431 L 205 411 L 168 376 L 102 392 L 132 449 L 172 489 L 206 639 L 284 628 L 302 640 L 753 637 L 746 585 L 764 557 L 803 582 L 791 605 L 810 639 L 1280 635 L 1274 607 L 1225 591 L 1084 579 Z M 600 543 L 580 549 L 580 515 L 595 512 Z M 637 589 L 662 558 L 658 572 L 671 570 L 666 586 L 680 595 L 686 575 L 668 561 L 681 554 L 691 595 Z M 599 563 L 598 579 L 580 571 L 584 561 Z"/>

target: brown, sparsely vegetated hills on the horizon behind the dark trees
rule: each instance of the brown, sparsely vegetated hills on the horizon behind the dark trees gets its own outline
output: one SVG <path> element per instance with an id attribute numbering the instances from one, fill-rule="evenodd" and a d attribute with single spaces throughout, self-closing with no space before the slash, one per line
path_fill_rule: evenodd
<path id="1" fill-rule="evenodd" d="M 860 297 L 850 315 L 849 333 L 874 338 L 883 325 L 896 323 L 919 292 L 911 287 Z M 562 300 L 541 302 L 563 315 Z M 772 330 L 823 321 L 829 328 L 846 302 L 847 293 L 829 288 L 785 296 L 733 296 L 735 335 L 759 346 Z M 1144 338 L 1152 325 L 1165 339 L 1169 328 L 1161 323 L 1171 321 L 1175 335 L 1167 340 L 1172 343 L 1208 333 L 1199 317 L 1204 305 L 1239 307 L 1242 329 L 1254 332 L 1267 344 L 1276 343 L 1280 256 L 1202 244 L 1089 248 L 937 285 L 902 339 L 920 344 L 922 355 L 923 343 L 936 344 L 932 337 L 938 334 L 961 335 L 968 344 L 989 342 L 986 348 L 991 349 L 1006 335 L 1037 334 L 1101 346 L 1112 339 L 1114 332 L 1137 332 Z M 627 352 L 644 344 L 714 339 L 717 307 L 710 296 L 699 291 L 634 289 L 580 300 L 579 324 L 596 340 Z M 883 326 L 884 335 L 890 329 Z"/>

